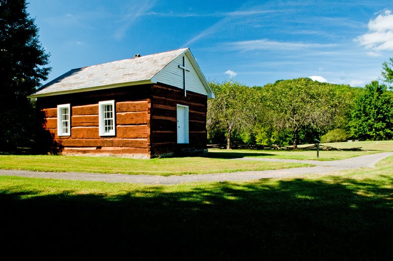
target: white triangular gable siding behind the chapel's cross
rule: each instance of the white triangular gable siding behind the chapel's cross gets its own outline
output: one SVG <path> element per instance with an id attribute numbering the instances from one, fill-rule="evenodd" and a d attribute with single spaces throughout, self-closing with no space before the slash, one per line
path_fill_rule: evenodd
<path id="1" fill-rule="evenodd" d="M 183 88 L 183 70 L 179 68 L 179 64 L 183 65 L 183 56 L 185 57 L 186 67 L 190 70 L 186 71 L 186 89 L 194 91 L 200 94 L 207 95 L 208 92 L 203 86 L 195 68 L 187 58 L 186 54 L 183 54 L 173 61 L 171 61 L 163 70 L 156 75 L 156 80 L 159 83 L 171 85 L 178 88 Z"/>

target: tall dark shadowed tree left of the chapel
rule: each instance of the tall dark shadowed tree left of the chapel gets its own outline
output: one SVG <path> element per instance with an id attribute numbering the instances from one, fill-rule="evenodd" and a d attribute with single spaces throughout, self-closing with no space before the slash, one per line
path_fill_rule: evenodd
<path id="1" fill-rule="evenodd" d="M 1 149 L 31 140 L 34 104 L 27 96 L 51 70 L 26 8 L 26 0 L 0 0 Z"/>

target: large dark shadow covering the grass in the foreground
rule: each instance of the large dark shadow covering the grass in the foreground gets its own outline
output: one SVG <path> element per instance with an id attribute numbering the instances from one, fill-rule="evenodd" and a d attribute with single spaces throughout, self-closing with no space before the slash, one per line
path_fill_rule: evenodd
<path id="1" fill-rule="evenodd" d="M 10 186 L 0 191 L 2 255 L 391 259 L 392 190 L 373 180 L 334 181 L 222 182 L 186 192 L 156 186 L 115 196 L 41 196 Z"/>

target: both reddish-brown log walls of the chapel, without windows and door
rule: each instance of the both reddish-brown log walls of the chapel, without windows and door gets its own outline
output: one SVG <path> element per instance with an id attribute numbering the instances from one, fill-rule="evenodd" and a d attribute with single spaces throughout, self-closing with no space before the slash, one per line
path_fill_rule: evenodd
<path id="1" fill-rule="evenodd" d="M 98 102 L 115 100 L 116 135 L 100 137 Z M 71 136 L 57 136 L 57 105 L 71 104 Z M 189 106 L 189 144 L 177 144 L 177 104 Z M 135 158 L 206 151 L 207 96 L 164 84 L 56 95 L 37 99 L 40 135 L 62 154 Z M 191 153 L 190 153 L 191 152 Z"/>

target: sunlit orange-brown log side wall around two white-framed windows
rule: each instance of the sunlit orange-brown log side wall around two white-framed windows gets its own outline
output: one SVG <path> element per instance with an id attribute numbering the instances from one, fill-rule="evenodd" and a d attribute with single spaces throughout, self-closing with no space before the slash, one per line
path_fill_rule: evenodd
<path id="1" fill-rule="evenodd" d="M 41 139 L 68 155 L 150 158 L 150 87 L 122 87 L 37 99 Z M 100 137 L 98 102 L 115 100 L 116 135 Z M 71 104 L 71 135 L 57 136 L 57 105 Z"/>

